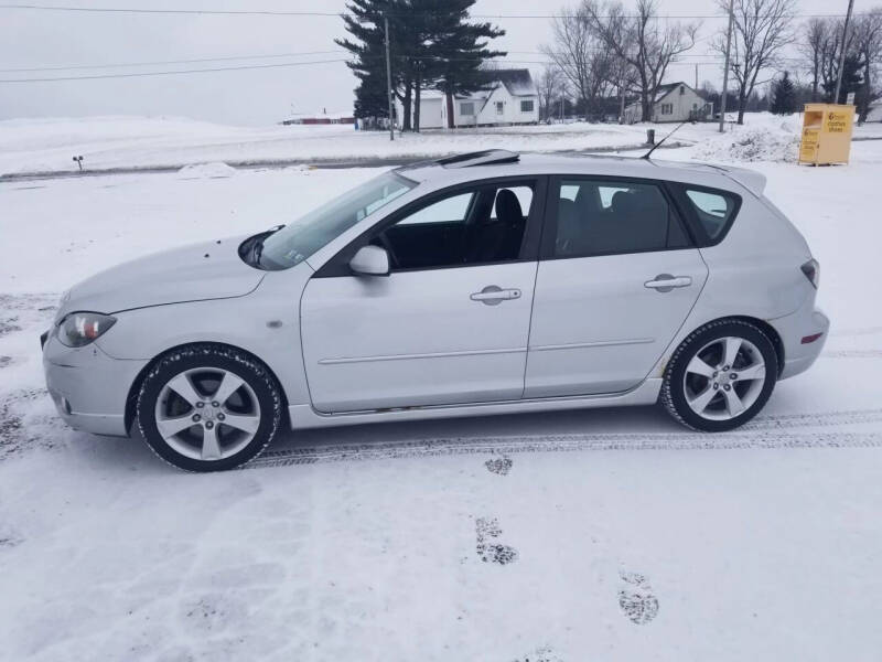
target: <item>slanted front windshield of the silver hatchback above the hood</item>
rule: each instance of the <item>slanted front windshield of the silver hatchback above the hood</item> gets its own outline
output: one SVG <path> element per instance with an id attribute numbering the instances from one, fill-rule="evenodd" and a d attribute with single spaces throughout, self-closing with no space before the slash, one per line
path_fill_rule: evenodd
<path id="1" fill-rule="evenodd" d="M 260 266 L 287 269 L 300 264 L 362 218 L 416 185 L 417 182 L 386 172 L 356 186 L 268 236 L 260 252 Z"/>

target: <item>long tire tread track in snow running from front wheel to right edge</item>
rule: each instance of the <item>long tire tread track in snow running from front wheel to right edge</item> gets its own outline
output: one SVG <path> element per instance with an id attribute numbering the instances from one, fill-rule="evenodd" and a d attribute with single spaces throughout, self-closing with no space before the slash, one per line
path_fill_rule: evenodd
<path id="1" fill-rule="evenodd" d="M 601 434 L 534 435 L 524 437 L 473 437 L 386 441 L 376 444 L 340 444 L 308 448 L 290 448 L 263 453 L 245 469 L 387 460 L 459 455 L 567 452 L 580 450 L 719 450 L 773 448 L 880 448 L 882 431 L 840 433 L 806 431 L 781 435 L 773 430 L 756 434 Z"/>

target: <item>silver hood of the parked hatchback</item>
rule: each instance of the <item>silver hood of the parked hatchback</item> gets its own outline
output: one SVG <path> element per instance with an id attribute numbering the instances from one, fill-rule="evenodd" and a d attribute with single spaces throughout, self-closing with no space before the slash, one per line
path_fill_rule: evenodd
<path id="1" fill-rule="evenodd" d="M 245 296 L 266 275 L 239 257 L 238 248 L 245 238 L 192 244 L 100 271 L 64 296 L 58 319 L 76 310 L 110 314 L 148 306 Z"/>

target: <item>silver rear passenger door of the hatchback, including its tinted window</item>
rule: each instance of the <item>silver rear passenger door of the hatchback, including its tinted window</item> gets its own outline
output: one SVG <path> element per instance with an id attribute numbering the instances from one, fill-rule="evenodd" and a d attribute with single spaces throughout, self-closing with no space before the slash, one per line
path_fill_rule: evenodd
<path id="1" fill-rule="evenodd" d="M 617 393 L 639 384 L 707 275 L 662 184 L 552 178 L 525 397 Z"/>

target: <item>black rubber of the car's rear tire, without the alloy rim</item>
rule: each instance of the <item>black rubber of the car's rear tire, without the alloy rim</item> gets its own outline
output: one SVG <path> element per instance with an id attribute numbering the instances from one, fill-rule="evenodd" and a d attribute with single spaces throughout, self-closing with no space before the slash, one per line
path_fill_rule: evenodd
<path id="1" fill-rule="evenodd" d="M 766 366 L 765 383 L 756 402 L 743 413 L 727 420 L 712 420 L 696 414 L 686 402 L 684 376 L 689 361 L 701 348 L 727 337 L 749 340 L 760 350 Z M 731 430 L 749 421 L 763 408 L 775 388 L 777 367 L 778 357 L 775 348 L 768 337 L 757 327 L 740 320 L 711 322 L 695 331 L 677 349 L 665 374 L 662 398 L 670 414 L 687 427 L 707 433 Z"/>

